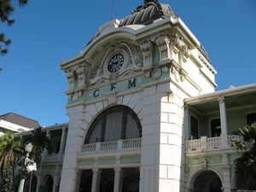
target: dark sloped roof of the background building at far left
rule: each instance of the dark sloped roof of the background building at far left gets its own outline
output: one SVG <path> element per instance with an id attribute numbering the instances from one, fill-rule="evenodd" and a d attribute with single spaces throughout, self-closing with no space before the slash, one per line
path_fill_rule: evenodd
<path id="1" fill-rule="evenodd" d="M 0 119 L 3 119 L 5 121 L 8 121 L 16 125 L 25 126 L 27 128 L 37 128 L 38 126 L 40 126 L 38 121 L 33 119 L 28 119 L 16 113 L 6 113 L 3 115 L 0 115 Z"/>

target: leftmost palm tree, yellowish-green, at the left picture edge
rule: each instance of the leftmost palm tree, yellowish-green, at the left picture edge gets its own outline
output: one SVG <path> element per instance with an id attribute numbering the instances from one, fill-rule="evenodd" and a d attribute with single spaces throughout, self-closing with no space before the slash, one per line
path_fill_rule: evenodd
<path id="1" fill-rule="evenodd" d="M 13 179 L 15 181 L 15 162 L 23 152 L 20 137 L 15 137 L 13 132 L 6 132 L 0 137 L 0 167 L 3 177 L 4 191 L 11 191 L 12 183 L 9 181 L 10 170 L 13 171 Z M 14 186 L 15 188 L 15 186 Z"/>

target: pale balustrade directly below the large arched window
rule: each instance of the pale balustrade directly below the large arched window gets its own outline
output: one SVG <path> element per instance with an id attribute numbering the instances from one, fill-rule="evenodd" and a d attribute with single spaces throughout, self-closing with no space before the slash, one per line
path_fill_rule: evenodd
<path id="1" fill-rule="evenodd" d="M 89 154 L 104 151 L 129 150 L 134 148 L 141 148 L 141 144 L 141 138 L 118 140 L 114 142 L 84 144 L 81 147 L 81 153 Z"/>

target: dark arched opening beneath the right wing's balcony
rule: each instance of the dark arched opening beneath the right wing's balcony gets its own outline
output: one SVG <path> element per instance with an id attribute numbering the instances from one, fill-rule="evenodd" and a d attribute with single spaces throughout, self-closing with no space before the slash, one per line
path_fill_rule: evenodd
<path id="1" fill-rule="evenodd" d="M 199 173 L 192 185 L 196 192 L 222 192 L 222 182 L 215 172 Z"/>

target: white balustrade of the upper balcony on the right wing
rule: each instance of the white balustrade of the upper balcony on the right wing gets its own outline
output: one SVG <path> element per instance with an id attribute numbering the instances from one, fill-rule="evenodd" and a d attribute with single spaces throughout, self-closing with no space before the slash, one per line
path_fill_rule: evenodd
<path id="1" fill-rule="evenodd" d="M 235 135 L 222 135 L 220 137 L 201 137 L 200 139 L 187 140 L 186 151 L 207 151 L 219 148 L 231 148 L 229 143 L 232 138 L 239 139 Z"/>

